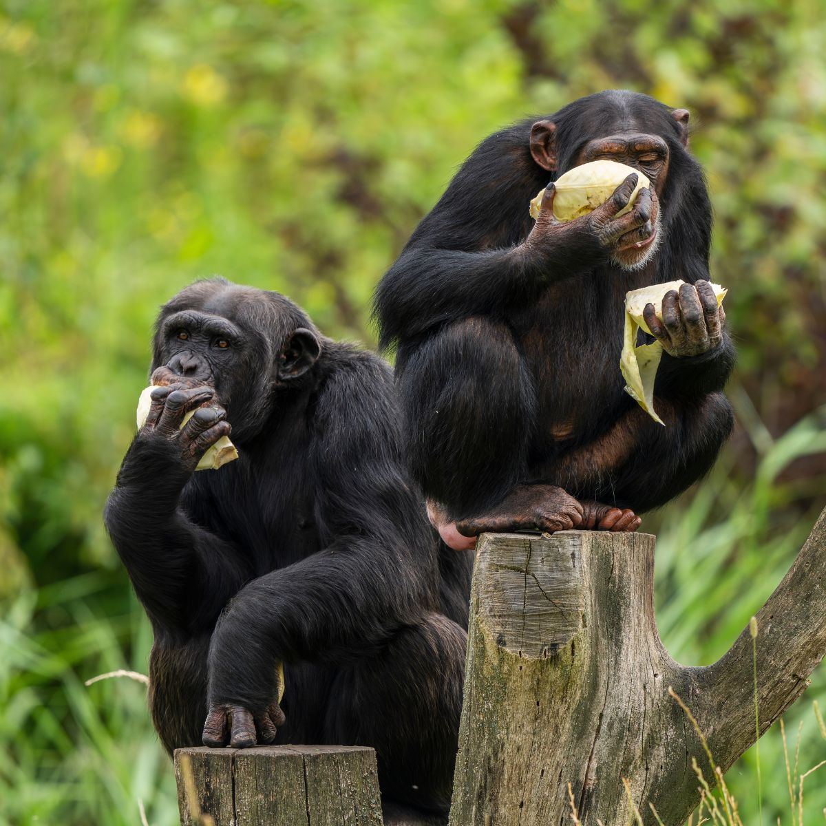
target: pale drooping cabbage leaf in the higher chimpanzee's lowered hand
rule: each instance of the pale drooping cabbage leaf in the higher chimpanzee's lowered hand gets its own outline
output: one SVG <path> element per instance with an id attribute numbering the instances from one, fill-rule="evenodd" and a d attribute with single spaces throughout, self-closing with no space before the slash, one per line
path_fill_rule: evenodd
<path id="1" fill-rule="evenodd" d="M 642 328 L 649 335 L 648 325 L 643 319 L 643 310 L 646 305 L 653 304 L 657 318 L 662 320 L 662 299 L 670 290 L 679 290 L 682 281 L 669 281 L 667 284 L 653 284 L 641 290 L 631 290 L 625 293 L 625 332 L 622 354 L 619 357 L 619 369 L 625 379 L 625 392 L 629 394 L 643 411 L 648 413 L 654 421 L 664 425 L 665 422 L 654 411 L 654 379 L 657 377 L 657 368 L 662 358 L 662 344 L 654 341 L 652 344 L 637 346 L 637 330 Z M 712 284 L 717 305 L 723 303 L 726 287 Z"/>

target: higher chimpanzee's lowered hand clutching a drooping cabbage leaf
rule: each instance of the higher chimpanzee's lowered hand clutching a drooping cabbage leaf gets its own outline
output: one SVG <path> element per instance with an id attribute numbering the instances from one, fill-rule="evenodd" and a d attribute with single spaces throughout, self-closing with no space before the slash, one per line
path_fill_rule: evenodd
<path id="1" fill-rule="evenodd" d="M 725 311 L 717 305 L 714 289 L 707 281 L 683 284 L 662 299 L 662 321 L 653 304 L 643 310 L 651 335 L 675 358 L 698 356 L 719 347 L 723 340 Z"/>

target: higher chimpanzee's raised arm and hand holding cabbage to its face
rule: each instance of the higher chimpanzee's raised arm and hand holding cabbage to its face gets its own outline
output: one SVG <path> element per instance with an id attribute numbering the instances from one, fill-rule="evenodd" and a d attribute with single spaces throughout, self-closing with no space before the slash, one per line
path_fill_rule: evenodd
<path id="1" fill-rule="evenodd" d="M 534 224 L 529 201 L 548 172 L 530 159 L 525 138 L 516 146 L 503 140 L 492 135 L 471 155 L 379 283 L 382 347 L 468 316 L 524 306 L 548 282 L 607 260 L 611 244 L 648 221 L 650 193 L 615 217 L 634 190 L 632 174 L 576 221 L 553 218 L 550 186 Z"/>

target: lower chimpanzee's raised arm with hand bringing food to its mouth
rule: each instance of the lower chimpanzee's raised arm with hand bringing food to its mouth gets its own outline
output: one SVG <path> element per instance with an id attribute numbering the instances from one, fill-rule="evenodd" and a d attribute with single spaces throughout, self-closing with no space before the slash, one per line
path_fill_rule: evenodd
<path id="1" fill-rule="evenodd" d="M 183 418 L 203 401 L 203 388 L 178 394 L 187 397 L 170 392 L 170 411 L 164 409 L 164 415 Z M 173 438 L 145 425 L 126 452 L 104 512 L 112 543 L 147 615 L 156 628 L 173 633 L 211 629 L 249 577 L 240 568 L 240 554 L 194 525 L 180 506 L 183 487 L 210 440 L 228 432 L 228 427 L 216 429 L 222 415 L 216 410 L 197 411 L 180 431 L 173 424 Z"/>

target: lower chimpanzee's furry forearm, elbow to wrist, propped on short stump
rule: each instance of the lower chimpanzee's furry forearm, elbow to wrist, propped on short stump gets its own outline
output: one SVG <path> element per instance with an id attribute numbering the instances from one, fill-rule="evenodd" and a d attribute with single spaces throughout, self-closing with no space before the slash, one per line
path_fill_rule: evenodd
<path id="1" fill-rule="evenodd" d="M 362 657 L 415 622 L 421 594 L 390 584 L 402 568 L 411 568 L 406 558 L 415 551 L 383 545 L 379 539 L 338 539 L 244 586 L 212 635 L 210 705 L 266 709 L 274 700 L 277 662 Z M 411 569 L 404 578 L 415 583 L 419 574 Z"/>

